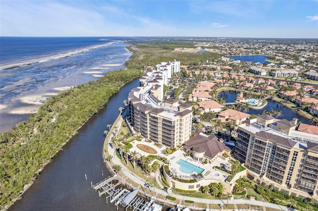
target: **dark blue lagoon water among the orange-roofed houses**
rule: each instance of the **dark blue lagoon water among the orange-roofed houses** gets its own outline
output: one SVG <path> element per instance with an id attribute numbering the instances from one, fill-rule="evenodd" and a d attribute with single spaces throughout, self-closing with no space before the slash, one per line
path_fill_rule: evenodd
<path id="1" fill-rule="evenodd" d="M 237 94 L 238 94 L 238 92 L 229 90 L 229 91 L 221 92 L 219 94 L 219 97 L 224 98 L 226 103 L 232 103 L 235 101 Z M 249 114 L 262 114 L 264 110 L 271 111 L 271 109 L 273 109 L 273 110 L 279 109 L 282 111 L 282 115 L 280 117 L 277 117 L 278 119 L 287 119 L 290 121 L 290 120 L 293 120 L 293 118 L 298 118 L 298 122 L 301 121 L 302 123 L 313 124 L 312 121 L 300 116 L 296 111 L 294 111 L 288 107 L 284 107 L 280 103 L 277 103 L 276 101 L 273 101 L 273 100 L 268 101 L 267 106 L 264 107 L 263 109 L 261 109 L 261 110 L 249 109 L 249 111 L 247 113 L 249 113 Z"/>

